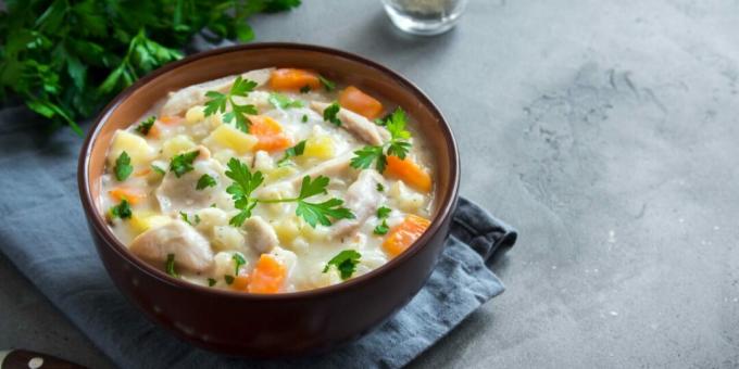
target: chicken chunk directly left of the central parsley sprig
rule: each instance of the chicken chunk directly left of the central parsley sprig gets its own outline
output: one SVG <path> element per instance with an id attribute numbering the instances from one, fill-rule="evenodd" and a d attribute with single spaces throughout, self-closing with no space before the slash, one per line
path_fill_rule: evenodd
<path id="1" fill-rule="evenodd" d="M 198 180 L 203 175 L 215 179 L 214 187 L 198 190 Z M 162 213 L 177 214 L 179 212 L 193 212 L 203 207 L 220 203 L 224 196 L 225 175 L 221 163 L 214 158 L 198 158 L 192 163 L 192 170 L 181 177 L 168 171 L 156 189 L 156 200 Z"/>

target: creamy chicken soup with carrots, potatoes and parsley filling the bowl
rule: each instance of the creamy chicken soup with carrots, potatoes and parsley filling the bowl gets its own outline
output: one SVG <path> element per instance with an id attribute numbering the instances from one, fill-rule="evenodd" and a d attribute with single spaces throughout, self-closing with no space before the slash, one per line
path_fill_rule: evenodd
<path id="1" fill-rule="evenodd" d="M 316 72 L 190 86 L 116 131 L 100 211 L 174 278 L 281 293 L 340 283 L 429 225 L 434 168 L 402 106 Z"/>

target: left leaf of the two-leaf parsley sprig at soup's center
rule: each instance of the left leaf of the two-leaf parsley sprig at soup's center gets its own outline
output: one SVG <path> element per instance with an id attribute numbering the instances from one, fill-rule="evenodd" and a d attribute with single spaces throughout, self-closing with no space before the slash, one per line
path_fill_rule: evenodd
<path id="1" fill-rule="evenodd" d="M 245 220 L 251 216 L 251 211 L 256 206 L 256 199 L 250 198 L 251 193 L 264 181 L 261 171 L 249 171 L 249 166 L 241 163 L 238 158 L 231 157 L 227 164 L 226 177 L 234 180 L 234 183 L 226 188 L 226 192 L 234 199 L 234 206 L 241 211 L 230 218 L 229 225 L 241 227 Z"/>

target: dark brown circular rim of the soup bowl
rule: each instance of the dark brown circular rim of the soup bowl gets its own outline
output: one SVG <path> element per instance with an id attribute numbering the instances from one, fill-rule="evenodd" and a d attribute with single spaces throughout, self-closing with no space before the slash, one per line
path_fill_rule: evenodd
<path id="1" fill-rule="evenodd" d="M 139 88 L 148 85 L 150 81 L 153 79 L 158 78 L 159 76 L 176 69 L 180 66 L 184 66 L 189 63 L 193 63 L 203 59 L 208 59 L 211 56 L 216 56 L 221 54 L 227 54 L 231 52 L 239 52 L 243 50 L 263 50 L 263 49 L 289 49 L 289 50 L 295 50 L 295 51 L 310 51 L 310 52 L 320 52 L 320 53 L 326 53 L 326 54 L 331 54 L 334 56 L 339 56 L 342 59 L 348 59 L 361 64 L 364 64 L 366 66 L 369 66 L 372 68 L 375 68 L 379 71 L 380 73 L 390 76 L 392 79 L 398 81 L 403 88 L 405 88 L 409 92 L 411 92 L 422 104 L 424 104 L 426 107 L 429 109 L 433 115 L 435 115 L 438 120 L 441 123 L 441 133 L 444 138 L 444 143 L 448 147 L 449 150 L 449 164 L 450 164 L 450 190 L 448 191 L 448 195 L 444 196 L 443 199 L 439 199 L 439 213 L 436 217 L 431 219 L 431 224 L 428 227 L 428 229 L 422 234 L 422 237 L 416 240 L 411 246 L 409 246 L 403 253 L 400 255 L 393 257 L 392 259 L 388 260 L 380 267 L 373 269 L 368 271 L 365 275 L 359 276 L 356 278 L 352 278 L 350 280 L 343 281 L 341 283 L 333 284 L 333 285 L 327 285 L 327 287 L 322 287 L 317 289 L 312 289 L 312 290 L 304 290 L 304 291 L 295 291 L 295 292 L 285 292 L 285 293 L 277 293 L 277 294 L 254 294 L 254 293 L 245 293 L 245 292 L 238 292 L 238 291 L 229 291 L 229 290 L 222 290 L 222 289 L 213 289 L 196 283 L 191 283 L 181 279 L 175 279 L 168 275 L 166 275 L 164 271 L 161 271 L 153 266 L 149 265 L 148 263 L 139 259 L 135 255 L 133 255 L 127 247 L 118 241 L 118 239 L 113 234 L 113 232 L 110 230 L 110 228 L 107 226 L 105 220 L 103 219 L 102 215 L 98 211 L 97 206 L 95 205 L 97 202 L 92 199 L 92 195 L 90 193 L 90 178 L 89 178 L 89 164 L 90 164 L 90 154 L 91 154 L 91 148 L 93 143 L 97 141 L 97 138 L 102 130 L 102 127 L 104 126 L 104 123 L 108 122 L 109 116 L 112 114 L 112 112 L 121 105 L 130 94 L 133 94 L 136 90 Z M 114 253 L 118 254 L 122 258 L 124 258 L 127 263 L 139 269 L 141 272 L 148 275 L 149 277 L 159 280 L 160 282 L 166 283 L 170 287 L 177 288 L 177 289 L 185 289 L 185 290 L 190 290 L 199 293 L 205 293 L 205 294 L 212 294 L 212 295 L 218 295 L 223 297 L 229 297 L 229 298 L 243 298 L 243 300 L 252 300 L 252 301 L 289 301 L 289 300 L 304 300 L 304 298 L 311 298 L 311 297 L 321 297 L 327 294 L 335 294 L 335 293 L 340 293 L 341 291 L 358 288 L 360 285 L 366 284 L 372 282 L 373 279 L 376 277 L 379 277 L 381 275 L 385 275 L 389 272 L 392 269 L 396 269 L 400 267 L 405 260 L 414 257 L 422 247 L 426 246 L 428 241 L 430 241 L 431 237 L 436 234 L 441 226 L 442 222 L 444 221 L 446 218 L 450 217 L 452 215 L 452 212 L 454 211 L 454 206 L 456 204 L 456 199 L 459 194 L 459 187 L 460 187 L 460 155 L 456 147 L 456 141 L 454 140 L 454 136 L 452 133 L 451 127 L 447 123 L 447 119 L 444 118 L 443 114 L 439 111 L 439 109 L 436 106 L 436 104 L 424 93 L 415 84 L 411 82 L 400 74 L 396 73 L 394 71 L 377 63 L 372 60 L 368 60 L 364 56 L 347 52 L 343 50 L 338 50 L 334 48 L 328 48 L 328 47 L 323 47 L 323 46 L 316 46 L 316 44 L 308 44 L 308 43 L 296 43 L 296 42 L 254 42 L 254 43 L 248 43 L 248 44 L 237 44 L 237 46 L 230 46 L 230 47 L 224 47 L 224 48 L 216 48 L 213 50 L 204 51 L 204 52 L 198 52 L 191 55 L 188 55 L 179 61 L 168 63 L 151 73 L 148 75 L 143 76 L 142 78 L 138 79 L 134 85 L 129 86 L 128 88 L 124 89 L 121 91 L 111 102 L 109 102 L 98 114 L 98 116 L 95 118 L 95 122 L 92 126 L 90 127 L 90 130 L 85 138 L 85 141 L 82 145 L 80 153 L 79 153 L 79 160 L 78 160 L 78 166 L 77 166 L 77 187 L 79 191 L 79 198 L 83 203 L 83 208 L 85 209 L 85 213 L 87 215 L 87 218 L 91 225 L 91 227 L 95 229 L 96 233 L 98 233 L 99 237 L 101 237 L 105 243 L 105 246 L 111 249 Z"/>

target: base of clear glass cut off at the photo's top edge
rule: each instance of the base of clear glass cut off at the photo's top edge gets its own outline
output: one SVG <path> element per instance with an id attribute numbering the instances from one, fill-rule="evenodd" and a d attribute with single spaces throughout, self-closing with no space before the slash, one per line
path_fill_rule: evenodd
<path id="1" fill-rule="evenodd" d="M 467 0 L 383 0 L 390 21 L 414 35 L 438 35 L 454 27 Z"/>

